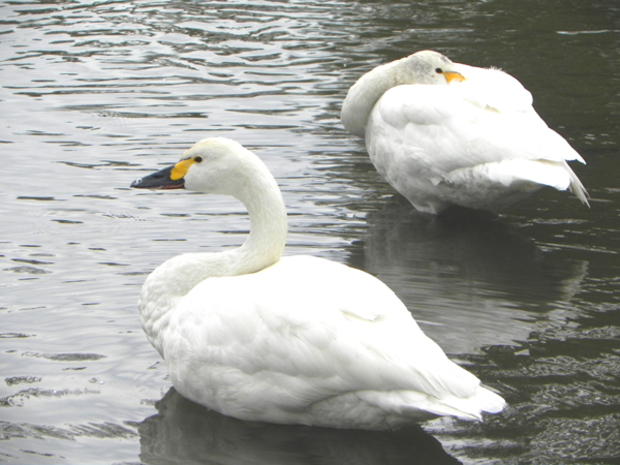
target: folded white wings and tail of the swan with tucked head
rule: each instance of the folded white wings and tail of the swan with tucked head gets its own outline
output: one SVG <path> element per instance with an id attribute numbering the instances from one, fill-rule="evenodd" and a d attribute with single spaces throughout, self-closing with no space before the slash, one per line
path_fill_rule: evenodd
<path id="1" fill-rule="evenodd" d="M 566 163 L 585 163 L 583 158 L 536 114 L 531 94 L 516 79 L 499 70 L 482 71 L 497 74 L 489 80 L 496 85 L 501 76 L 503 87 L 472 79 L 447 87 L 388 90 L 375 105 L 366 133 L 379 171 L 388 166 L 382 157 L 400 156 L 394 166 L 415 165 L 416 176 L 426 170 L 435 185 L 481 183 L 486 178 L 505 186 L 570 187 L 587 204 L 585 188 Z M 506 93 L 506 87 L 513 92 Z"/>

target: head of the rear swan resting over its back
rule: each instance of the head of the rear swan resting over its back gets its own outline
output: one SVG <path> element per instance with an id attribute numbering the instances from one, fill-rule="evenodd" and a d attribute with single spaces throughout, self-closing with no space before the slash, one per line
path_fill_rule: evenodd
<path id="1" fill-rule="evenodd" d="M 416 52 L 396 63 L 399 84 L 446 85 L 465 80 L 448 57 L 432 50 Z"/>

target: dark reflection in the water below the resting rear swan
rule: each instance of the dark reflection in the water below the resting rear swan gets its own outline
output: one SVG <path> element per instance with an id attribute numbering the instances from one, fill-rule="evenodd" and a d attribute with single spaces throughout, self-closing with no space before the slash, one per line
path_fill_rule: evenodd
<path id="1" fill-rule="evenodd" d="M 434 217 L 397 195 L 367 215 L 349 264 L 385 282 L 424 332 L 451 354 L 527 339 L 581 291 L 585 260 L 546 253 L 491 212 Z"/>

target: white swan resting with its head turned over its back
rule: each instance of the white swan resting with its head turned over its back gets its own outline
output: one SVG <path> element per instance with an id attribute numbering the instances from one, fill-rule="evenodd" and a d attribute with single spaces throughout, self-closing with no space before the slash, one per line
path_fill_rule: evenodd
<path id="1" fill-rule="evenodd" d="M 542 186 L 570 188 L 588 205 L 566 163 L 585 161 L 538 116 L 519 81 L 498 69 L 417 52 L 363 75 L 340 116 L 419 211 L 495 210 Z"/>

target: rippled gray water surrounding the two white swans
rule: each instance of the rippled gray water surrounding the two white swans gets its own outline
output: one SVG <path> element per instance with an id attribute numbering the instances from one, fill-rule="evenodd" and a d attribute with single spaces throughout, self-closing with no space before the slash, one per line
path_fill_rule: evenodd
<path id="1" fill-rule="evenodd" d="M 587 160 L 592 207 L 547 189 L 497 215 L 413 211 L 338 114 L 362 73 L 421 49 L 516 76 Z M 0 463 L 620 463 L 619 54 L 613 0 L 0 3 Z M 276 176 L 287 254 L 378 276 L 509 408 L 377 433 L 178 396 L 140 286 L 248 222 L 232 199 L 128 186 L 211 135 Z"/>

